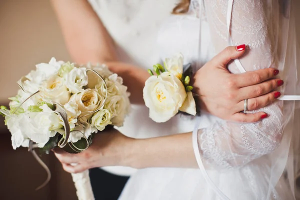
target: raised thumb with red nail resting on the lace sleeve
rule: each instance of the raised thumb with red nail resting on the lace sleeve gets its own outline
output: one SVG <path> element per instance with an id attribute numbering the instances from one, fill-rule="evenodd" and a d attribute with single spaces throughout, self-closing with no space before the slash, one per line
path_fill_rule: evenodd
<path id="1" fill-rule="evenodd" d="M 227 46 L 217 55 L 215 55 L 211 61 L 213 61 L 217 66 L 222 66 L 227 68 L 228 62 L 232 59 L 236 59 L 240 57 L 245 52 L 245 44 L 241 44 L 238 46 Z"/>

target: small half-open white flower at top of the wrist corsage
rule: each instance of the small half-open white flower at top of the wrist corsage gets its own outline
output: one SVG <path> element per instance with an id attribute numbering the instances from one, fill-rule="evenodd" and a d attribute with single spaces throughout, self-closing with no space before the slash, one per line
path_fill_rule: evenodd
<path id="1" fill-rule="evenodd" d="M 181 79 L 183 72 L 183 55 L 178 53 L 171 58 L 165 58 L 164 67 L 174 76 Z"/>

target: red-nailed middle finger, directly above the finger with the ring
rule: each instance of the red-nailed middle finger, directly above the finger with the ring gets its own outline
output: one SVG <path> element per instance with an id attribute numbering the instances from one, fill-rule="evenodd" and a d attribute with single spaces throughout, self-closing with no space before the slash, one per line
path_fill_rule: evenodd
<path id="1" fill-rule="evenodd" d="M 239 97 L 241 99 L 249 99 L 249 98 L 261 96 L 263 94 L 266 94 L 276 89 L 278 86 L 281 86 L 283 83 L 284 83 L 283 80 L 276 78 L 276 79 L 271 79 L 271 80 L 261 82 L 259 84 L 242 87 L 238 90 Z"/>

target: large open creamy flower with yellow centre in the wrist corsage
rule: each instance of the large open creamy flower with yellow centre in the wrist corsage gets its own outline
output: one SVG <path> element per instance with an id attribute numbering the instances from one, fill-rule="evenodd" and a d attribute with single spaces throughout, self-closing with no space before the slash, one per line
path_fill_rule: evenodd
<path id="1" fill-rule="evenodd" d="M 149 108 L 149 117 L 156 122 L 165 122 L 182 106 L 186 91 L 182 82 L 172 73 L 150 76 L 143 88 L 143 99 Z"/>

